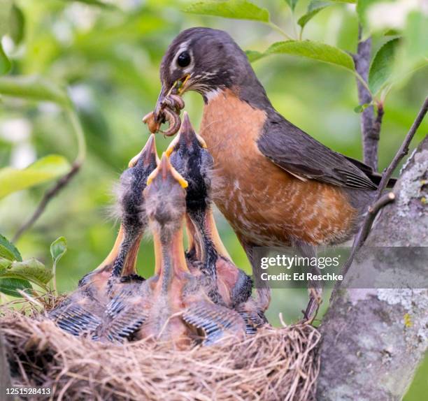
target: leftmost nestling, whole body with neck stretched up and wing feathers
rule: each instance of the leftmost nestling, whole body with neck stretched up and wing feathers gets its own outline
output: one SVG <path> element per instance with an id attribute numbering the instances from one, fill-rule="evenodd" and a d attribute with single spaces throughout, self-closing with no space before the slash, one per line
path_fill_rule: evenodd
<path id="1" fill-rule="evenodd" d="M 48 315 L 68 333 L 94 333 L 105 319 L 106 305 L 115 292 L 122 290 L 123 283 L 143 281 L 136 274 L 138 248 L 147 226 L 142 191 L 156 166 L 155 137 L 150 136 L 120 177 L 121 226 L 113 249 L 98 268 L 80 279 L 78 289 Z"/>

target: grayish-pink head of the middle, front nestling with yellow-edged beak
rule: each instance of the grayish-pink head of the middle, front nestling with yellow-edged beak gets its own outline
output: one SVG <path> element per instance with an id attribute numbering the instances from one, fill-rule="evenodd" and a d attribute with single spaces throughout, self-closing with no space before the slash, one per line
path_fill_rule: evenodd
<path id="1" fill-rule="evenodd" d="M 150 174 L 143 192 L 145 210 L 152 226 L 176 231 L 183 224 L 186 211 L 186 180 L 171 166 L 164 153 L 156 170 Z"/>

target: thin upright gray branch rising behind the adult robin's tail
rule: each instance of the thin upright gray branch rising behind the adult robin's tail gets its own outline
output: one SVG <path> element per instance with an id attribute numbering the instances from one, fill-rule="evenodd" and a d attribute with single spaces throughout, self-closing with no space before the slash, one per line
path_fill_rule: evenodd
<path id="1" fill-rule="evenodd" d="M 359 104 L 369 104 L 373 101 L 367 85 L 369 78 L 370 56 L 371 56 L 371 38 L 361 41 L 362 28 L 358 31 L 357 54 L 353 55 L 355 69 L 357 71 L 357 89 Z M 379 121 L 382 122 L 382 111 L 378 112 Z M 378 141 L 380 133 L 380 124 L 375 127 L 375 117 L 373 105 L 370 105 L 362 112 L 361 131 L 363 140 L 364 163 L 368 164 L 373 170 L 378 170 Z"/>

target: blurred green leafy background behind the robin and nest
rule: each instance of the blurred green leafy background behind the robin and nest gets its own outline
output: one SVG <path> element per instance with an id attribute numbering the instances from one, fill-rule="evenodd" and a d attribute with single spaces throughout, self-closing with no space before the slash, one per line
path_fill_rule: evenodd
<path id="1" fill-rule="evenodd" d="M 25 268 L 34 267 L 36 258 L 50 269 L 50 244 L 64 236 L 66 245 L 59 240 L 52 247 L 61 293 L 76 288 L 108 254 L 118 227 L 110 217 L 111 189 L 148 138 L 141 117 L 157 99 L 162 54 L 188 27 L 228 31 L 248 50 L 279 112 L 325 145 L 361 159 L 356 78 L 346 53 L 355 52 L 360 22 L 363 36 L 373 35 L 377 53 L 369 87 L 376 99 L 385 99 L 379 154 L 385 168 L 427 94 L 427 15 L 417 0 L 354 3 L 0 0 L 0 233 L 13 238 L 55 179 L 83 161 L 78 175 L 15 243 Z M 185 102 L 198 126 L 200 96 L 187 94 Z M 425 121 L 413 147 L 427 131 Z M 168 143 L 158 136 L 159 152 Z M 249 272 L 220 214 L 217 224 L 234 261 Z M 15 259 L 14 268 L 22 268 Z M 147 240 L 138 269 L 147 276 L 153 265 Z M 0 294 L 3 301 L 13 295 Z M 278 325 L 279 312 L 287 323 L 297 320 L 305 302 L 306 291 L 274 290 L 270 321 Z M 406 400 L 422 399 L 427 377 L 425 363 Z"/>

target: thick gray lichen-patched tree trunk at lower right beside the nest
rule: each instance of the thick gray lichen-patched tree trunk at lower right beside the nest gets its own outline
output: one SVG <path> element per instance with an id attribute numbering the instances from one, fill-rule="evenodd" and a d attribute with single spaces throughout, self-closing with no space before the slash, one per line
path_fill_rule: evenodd
<path id="1" fill-rule="evenodd" d="M 428 138 L 394 187 L 366 245 L 428 246 Z M 404 269 L 401 261 L 397 268 Z M 348 271 L 385 271 L 385 261 L 355 260 Z M 428 345 L 427 289 L 340 289 L 324 316 L 317 400 L 400 400 Z"/>

